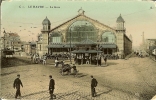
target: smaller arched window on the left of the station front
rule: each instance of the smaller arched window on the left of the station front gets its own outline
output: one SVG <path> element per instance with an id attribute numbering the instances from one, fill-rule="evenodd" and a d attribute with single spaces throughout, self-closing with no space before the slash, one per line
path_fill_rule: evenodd
<path id="1" fill-rule="evenodd" d="M 52 43 L 62 43 L 62 35 L 59 32 L 52 32 L 50 35 L 50 40 Z"/>

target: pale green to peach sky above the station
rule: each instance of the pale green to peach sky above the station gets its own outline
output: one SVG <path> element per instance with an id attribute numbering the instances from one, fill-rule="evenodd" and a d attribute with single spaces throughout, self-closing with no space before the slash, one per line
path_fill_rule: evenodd
<path id="1" fill-rule="evenodd" d="M 116 19 L 121 14 L 125 20 L 126 35 L 132 35 L 134 46 L 142 43 L 143 32 L 145 39 L 156 39 L 156 2 L 141 0 L 3 1 L 1 35 L 3 36 L 5 30 L 18 33 L 22 41 L 36 41 L 46 16 L 51 22 L 51 28 L 54 28 L 75 17 L 81 7 L 86 16 L 111 27 L 116 27 Z"/>

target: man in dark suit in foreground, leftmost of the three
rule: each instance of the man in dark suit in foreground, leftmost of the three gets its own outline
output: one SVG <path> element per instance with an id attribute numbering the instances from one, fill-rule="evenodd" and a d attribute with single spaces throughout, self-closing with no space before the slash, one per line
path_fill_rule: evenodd
<path id="1" fill-rule="evenodd" d="M 20 80 L 20 74 L 17 75 L 17 78 L 14 80 L 14 84 L 13 87 L 16 87 L 16 95 L 15 98 L 17 98 L 18 96 L 21 97 L 21 91 L 20 91 L 20 85 L 23 87 L 23 84 Z"/>

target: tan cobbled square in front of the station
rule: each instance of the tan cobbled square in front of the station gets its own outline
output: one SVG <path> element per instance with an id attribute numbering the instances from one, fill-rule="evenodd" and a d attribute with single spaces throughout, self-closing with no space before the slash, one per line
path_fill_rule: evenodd
<path id="1" fill-rule="evenodd" d="M 65 61 L 69 63 L 69 61 Z M 21 75 L 22 99 L 49 100 L 49 75 L 55 80 L 55 100 L 150 100 L 156 95 L 156 62 L 149 57 L 132 56 L 124 60 L 108 60 L 107 66 L 76 65 L 79 73 L 61 75 L 54 60 L 47 65 L 30 64 L 1 69 L 1 98 L 14 99 L 13 82 Z M 91 97 L 90 75 L 97 81 L 97 96 Z"/>

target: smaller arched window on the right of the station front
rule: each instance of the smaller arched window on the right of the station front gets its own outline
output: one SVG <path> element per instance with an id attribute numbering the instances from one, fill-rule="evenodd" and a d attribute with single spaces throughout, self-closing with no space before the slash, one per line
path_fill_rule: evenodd
<path id="1" fill-rule="evenodd" d="M 112 32 L 104 32 L 102 34 L 102 42 L 109 42 L 109 43 L 115 43 L 116 42 L 116 38 L 114 33 Z"/>

